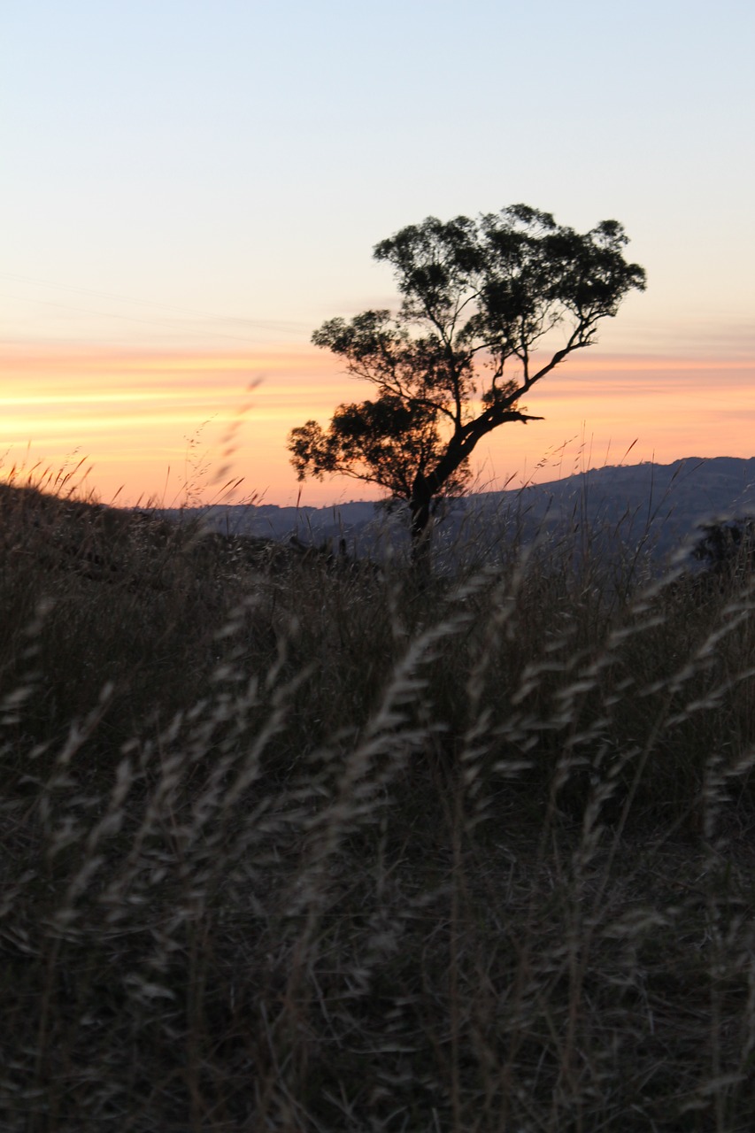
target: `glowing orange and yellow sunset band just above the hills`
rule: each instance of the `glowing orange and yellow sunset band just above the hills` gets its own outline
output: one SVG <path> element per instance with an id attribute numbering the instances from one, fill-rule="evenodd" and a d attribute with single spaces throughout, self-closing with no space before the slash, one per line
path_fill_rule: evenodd
<path id="1" fill-rule="evenodd" d="M 295 503 L 299 488 L 313 505 L 378 494 L 345 478 L 296 483 L 290 428 L 308 418 L 326 424 L 337 404 L 368 395 L 366 383 L 315 347 L 241 353 L 14 343 L 1 348 L 0 365 L 0 476 L 84 455 L 87 484 L 104 502 L 119 489 L 122 504 L 167 501 L 187 491 L 192 476 L 210 497 L 214 470 L 227 465 L 229 476 L 244 477 L 240 496 L 257 493 L 269 503 Z M 533 470 L 540 480 L 555 478 L 554 469 L 567 475 L 565 442 L 577 445 L 575 459 L 586 467 L 621 460 L 635 438 L 633 463 L 753 455 L 752 358 L 596 348 L 574 355 L 524 401 L 546 419 L 502 427 L 478 445 L 481 487 L 502 487 L 511 476 L 520 483 Z"/>

